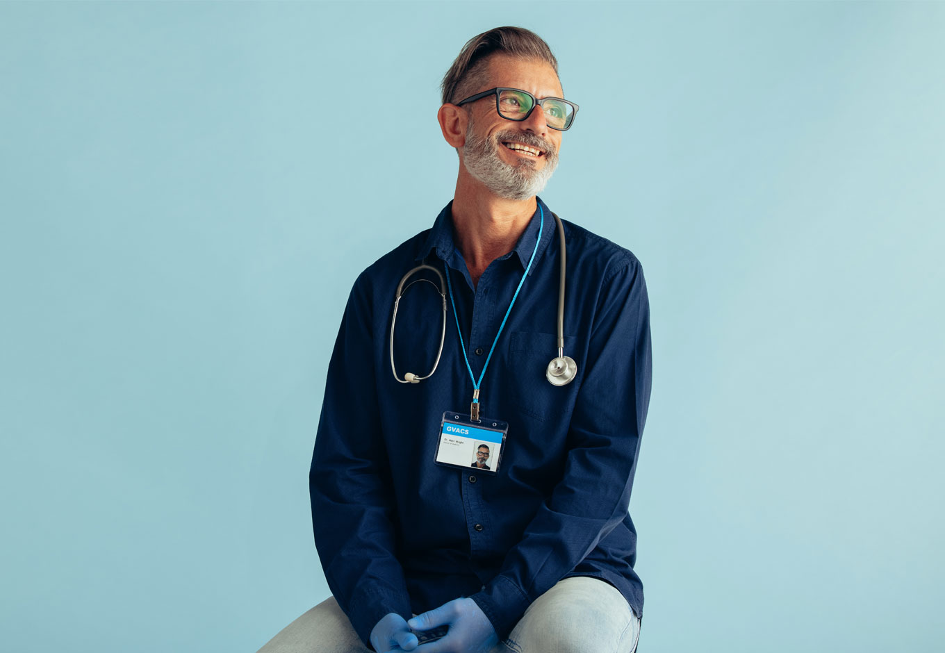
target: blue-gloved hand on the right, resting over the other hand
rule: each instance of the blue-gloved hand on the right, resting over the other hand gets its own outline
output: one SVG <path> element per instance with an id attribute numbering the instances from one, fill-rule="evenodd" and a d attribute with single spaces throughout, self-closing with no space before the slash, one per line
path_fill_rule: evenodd
<path id="1" fill-rule="evenodd" d="M 417 653 L 488 653 L 499 643 L 489 617 L 471 598 L 457 598 L 436 610 L 423 612 L 407 622 L 414 630 L 449 626 L 446 637 L 421 644 Z"/>

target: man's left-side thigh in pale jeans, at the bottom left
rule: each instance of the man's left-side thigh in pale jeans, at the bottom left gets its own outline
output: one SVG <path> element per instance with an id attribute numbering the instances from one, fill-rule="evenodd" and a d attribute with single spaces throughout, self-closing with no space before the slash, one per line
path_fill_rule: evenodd
<path id="1" fill-rule="evenodd" d="M 257 653 L 370 653 L 334 596 L 284 627 Z"/>

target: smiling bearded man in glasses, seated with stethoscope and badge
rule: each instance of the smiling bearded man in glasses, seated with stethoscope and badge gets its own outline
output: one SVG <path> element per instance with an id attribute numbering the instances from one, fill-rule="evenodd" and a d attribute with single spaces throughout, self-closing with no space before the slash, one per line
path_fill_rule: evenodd
<path id="1" fill-rule="evenodd" d="M 576 112 L 555 99 L 557 71 L 541 38 L 500 27 L 444 77 L 453 201 L 358 277 L 329 366 L 310 490 L 334 596 L 266 653 L 635 648 L 643 586 L 627 506 L 650 391 L 646 287 L 627 249 L 563 222 L 563 344 L 577 368 L 548 383 L 561 243 L 536 194 Z M 391 335 L 398 284 L 421 263 L 432 270 L 417 278 L 442 274 L 449 299 L 405 291 Z M 488 473 L 438 457 L 461 442 L 449 428 L 475 424 L 502 443 Z M 444 637 L 418 645 L 437 627 Z"/>

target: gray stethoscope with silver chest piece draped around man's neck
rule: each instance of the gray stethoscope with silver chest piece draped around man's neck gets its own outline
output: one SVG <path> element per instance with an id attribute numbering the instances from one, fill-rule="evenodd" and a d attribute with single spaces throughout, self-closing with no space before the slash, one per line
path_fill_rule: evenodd
<path id="1" fill-rule="evenodd" d="M 577 364 L 575 359 L 571 356 L 564 355 L 564 282 L 566 278 L 567 270 L 567 248 L 564 244 L 564 225 L 561 223 L 561 218 L 554 213 L 551 214 L 555 217 L 555 222 L 558 224 L 558 240 L 559 249 L 561 252 L 561 263 L 558 271 L 558 356 L 553 358 L 550 363 L 548 363 L 548 368 L 545 369 L 544 376 L 548 379 L 548 383 L 552 386 L 567 386 L 569 383 L 575 380 L 577 375 Z M 421 376 L 419 374 L 414 374 L 413 372 L 407 372 L 404 374 L 404 378 L 400 378 L 397 374 L 397 367 L 394 365 L 394 325 L 397 323 L 397 308 L 401 303 L 401 297 L 413 284 L 420 282 L 426 282 L 431 284 L 434 287 L 437 287 L 437 284 L 434 284 L 429 279 L 415 279 L 414 281 L 407 284 L 407 280 L 412 277 L 414 274 L 417 274 L 421 270 L 428 269 L 433 270 L 439 279 L 439 296 L 443 301 L 443 323 L 439 335 L 439 351 L 437 352 L 437 360 L 433 363 L 433 369 L 430 370 L 429 374 Z M 443 355 L 443 343 L 446 341 L 446 287 L 443 283 L 442 273 L 434 266 L 428 266 L 426 263 L 422 263 L 420 266 L 416 266 L 411 269 L 409 272 L 404 274 L 401 278 L 401 283 L 397 284 L 397 292 L 394 296 L 394 315 L 390 318 L 390 369 L 394 372 L 394 378 L 397 379 L 399 383 L 420 383 L 423 379 L 429 379 L 433 376 L 433 373 L 437 371 L 437 366 L 439 365 L 439 358 Z"/>

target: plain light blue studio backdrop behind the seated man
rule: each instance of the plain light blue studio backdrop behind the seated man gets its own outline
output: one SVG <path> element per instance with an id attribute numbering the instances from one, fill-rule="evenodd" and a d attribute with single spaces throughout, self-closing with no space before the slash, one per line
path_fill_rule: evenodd
<path id="1" fill-rule="evenodd" d="M 335 331 L 498 25 L 581 105 L 542 197 L 646 270 L 640 650 L 940 650 L 945 5 L 846 2 L 0 4 L 0 648 L 254 651 L 328 595 Z"/>

